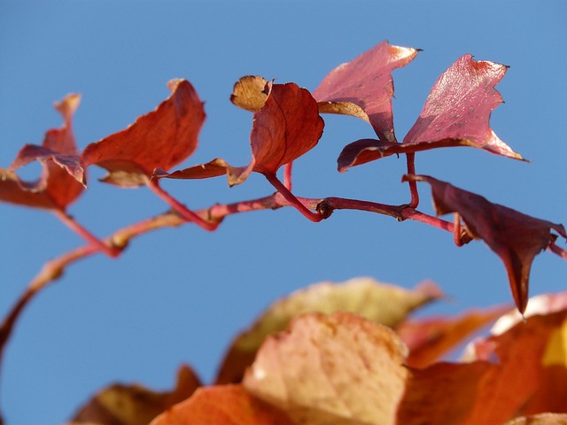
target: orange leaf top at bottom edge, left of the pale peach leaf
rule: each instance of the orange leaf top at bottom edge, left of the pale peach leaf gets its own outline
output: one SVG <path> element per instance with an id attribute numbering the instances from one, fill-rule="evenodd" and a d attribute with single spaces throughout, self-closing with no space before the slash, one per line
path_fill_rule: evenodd
<path id="1" fill-rule="evenodd" d="M 151 421 L 151 425 L 292 425 L 285 413 L 240 385 L 203 387 Z"/>

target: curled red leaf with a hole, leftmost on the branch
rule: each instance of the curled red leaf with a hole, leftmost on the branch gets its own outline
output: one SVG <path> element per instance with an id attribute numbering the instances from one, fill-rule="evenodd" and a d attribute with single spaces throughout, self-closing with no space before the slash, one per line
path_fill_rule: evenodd
<path id="1" fill-rule="evenodd" d="M 0 199 L 19 205 L 64 211 L 84 189 L 84 170 L 78 161 L 72 119 L 81 97 L 73 94 L 55 104 L 65 123 L 46 132 L 42 146 L 28 144 L 9 170 L 0 170 Z M 38 160 L 43 171 L 35 182 L 23 182 L 13 170 Z"/>

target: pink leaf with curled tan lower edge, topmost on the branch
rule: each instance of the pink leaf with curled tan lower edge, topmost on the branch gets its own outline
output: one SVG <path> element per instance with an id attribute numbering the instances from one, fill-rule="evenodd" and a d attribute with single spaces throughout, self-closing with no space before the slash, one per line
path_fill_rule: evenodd
<path id="1" fill-rule="evenodd" d="M 417 51 L 384 41 L 337 66 L 313 92 L 319 111 L 361 118 L 372 125 L 380 140 L 395 141 L 392 71 L 408 65 Z"/>

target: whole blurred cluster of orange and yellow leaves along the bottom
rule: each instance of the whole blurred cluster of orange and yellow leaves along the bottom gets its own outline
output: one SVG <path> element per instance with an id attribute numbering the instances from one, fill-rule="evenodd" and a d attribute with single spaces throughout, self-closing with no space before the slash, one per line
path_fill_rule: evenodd
<path id="1" fill-rule="evenodd" d="M 214 385 L 182 367 L 173 392 L 115 385 L 70 423 L 141 425 L 156 405 L 151 425 L 567 423 L 567 293 L 533 298 L 525 321 L 508 305 L 413 317 L 441 298 L 432 282 L 314 284 L 237 336 Z"/>

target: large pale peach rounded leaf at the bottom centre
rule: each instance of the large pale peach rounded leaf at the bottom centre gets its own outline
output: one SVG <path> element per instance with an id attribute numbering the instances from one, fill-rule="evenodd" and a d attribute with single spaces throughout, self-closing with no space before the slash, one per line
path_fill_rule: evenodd
<path id="1" fill-rule="evenodd" d="M 268 336 L 246 390 L 297 424 L 395 423 L 407 348 L 390 328 L 353 313 L 307 313 Z"/>

